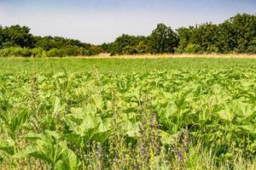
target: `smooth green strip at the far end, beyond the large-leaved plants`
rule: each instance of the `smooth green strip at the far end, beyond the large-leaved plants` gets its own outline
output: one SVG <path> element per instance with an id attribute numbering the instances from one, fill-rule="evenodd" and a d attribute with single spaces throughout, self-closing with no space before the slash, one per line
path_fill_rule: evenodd
<path id="1" fill-rule="evenodd" d="M 200 70 L 203 68 L 256 68 L 256 59 L 217 58 L 160 58 L 160 59 L 0 59 L 2 73 L 20 72 L 85 72 L 128 73 L 132 71 L 152 71 L 177 69 Z"/>

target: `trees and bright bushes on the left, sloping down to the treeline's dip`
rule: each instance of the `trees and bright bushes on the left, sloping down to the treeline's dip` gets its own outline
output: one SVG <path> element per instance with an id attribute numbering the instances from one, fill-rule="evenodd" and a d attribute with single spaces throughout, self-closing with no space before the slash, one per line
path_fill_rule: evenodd
<path id="1" fill-rule="evenodd" d="M 0 56 L 62 57 L 96 55 L 100 46 L 64 37 L 37 37 L 27 26 L 0 26 Z"/>

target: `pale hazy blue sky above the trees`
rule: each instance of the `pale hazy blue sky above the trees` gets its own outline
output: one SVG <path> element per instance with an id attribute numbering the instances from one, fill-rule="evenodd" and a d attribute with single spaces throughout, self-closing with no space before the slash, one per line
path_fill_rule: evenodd
<path id="1" fill-rule="evenodd" d="M 0 0 L 0 25 L 33 35 L 113 42 L 121 34 L 148 36 L 158 23 L 177 29 L 237 13 L 256 14 L 256 0 Z"/>

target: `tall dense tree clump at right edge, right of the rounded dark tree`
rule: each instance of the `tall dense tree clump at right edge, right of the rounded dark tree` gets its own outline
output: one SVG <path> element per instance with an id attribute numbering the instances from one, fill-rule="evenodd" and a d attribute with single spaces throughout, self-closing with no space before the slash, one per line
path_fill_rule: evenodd
<path id="1" fill-rule="evenodd" d="M 176 53 L 255 53 L 256 16 L 236 14 L 224 23 L 177 29 Z"/>

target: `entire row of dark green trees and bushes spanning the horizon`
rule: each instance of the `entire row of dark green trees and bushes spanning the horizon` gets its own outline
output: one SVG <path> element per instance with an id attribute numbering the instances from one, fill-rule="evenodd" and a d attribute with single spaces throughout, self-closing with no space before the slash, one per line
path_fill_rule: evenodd
<path id="1" fill-rule="evenodd" d="M 92 45 L 64 37 L 36 37 L 26 26 L 0 26 L 0 56 L 61 57 L 108 54 L 256 54 L 256 15 L 236 14 L 221 24 L 158 24 L 148 37 L 123 34 Z"/>

